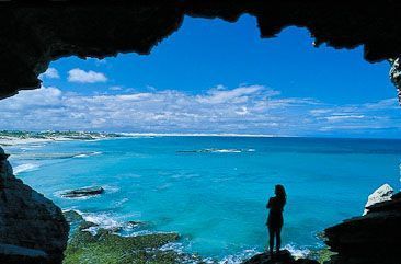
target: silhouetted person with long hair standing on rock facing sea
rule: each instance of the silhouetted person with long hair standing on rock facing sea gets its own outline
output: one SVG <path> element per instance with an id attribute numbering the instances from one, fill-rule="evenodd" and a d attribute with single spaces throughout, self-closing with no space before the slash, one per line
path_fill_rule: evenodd
<path id="1" fill-rule="evenodd" d="M 266 205 L 266 208 L 270 209 L 266 225 L 268 229 L 268 250 L 272 256 L 274 239 L 276 239 L 276 253 L 279 253 L 282 246 L 283 210 L 287 202 L 286 191 L 283 185 L 277 184 L 274 193 L 276 196 L 271 197 Z"/>

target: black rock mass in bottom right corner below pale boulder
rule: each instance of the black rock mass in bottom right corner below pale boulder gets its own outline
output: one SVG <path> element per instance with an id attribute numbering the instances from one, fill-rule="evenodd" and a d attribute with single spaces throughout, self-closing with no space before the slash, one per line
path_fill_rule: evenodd
<path id="1" fill-rule="evenodd" d="M 337 255 L 331 264 L 396 264 L 401 249 L 401 199 L 369 206 L 355 217 L 325 230 L 325 243 Z"/>

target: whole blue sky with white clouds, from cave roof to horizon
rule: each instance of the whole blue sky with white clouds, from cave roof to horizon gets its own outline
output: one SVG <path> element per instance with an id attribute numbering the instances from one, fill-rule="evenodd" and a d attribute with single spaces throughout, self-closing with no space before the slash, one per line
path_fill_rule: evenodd
<path id="1" fill-rule="evenodd" d="M 306 28 L 185 18 L 148 56 L 53 61 L 42 88 L 0 101 L 2 129 L 399 138 L 387 61 L 313 47 Z"/>

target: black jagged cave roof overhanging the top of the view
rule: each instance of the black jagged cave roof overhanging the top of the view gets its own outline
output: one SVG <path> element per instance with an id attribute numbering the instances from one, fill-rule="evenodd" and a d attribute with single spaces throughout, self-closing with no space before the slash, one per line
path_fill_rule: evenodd
<path id="1" fill-rule="evenodd" d="M 393 0 L 1 1 L 0 99 L 39 88 L 38 74 L 60 57 L 149 54 L 185 15 L 234 22 L 249 13 L 256 16 L 261 37 L 306 26 L 316 46 L 364 45 L 368 61 L 394 59 L 401 55 L 400 11 L 401 2 Z"/>

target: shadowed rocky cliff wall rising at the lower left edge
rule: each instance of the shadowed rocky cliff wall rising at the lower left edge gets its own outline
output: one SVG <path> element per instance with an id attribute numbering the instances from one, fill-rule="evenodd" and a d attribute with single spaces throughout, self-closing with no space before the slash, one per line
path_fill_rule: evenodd
<path id="1" fill-rule="evenodd" d="M 62 261 L 69 226 L 61 210 L 13 175 L 0 148 L 0 263 Z"/>

